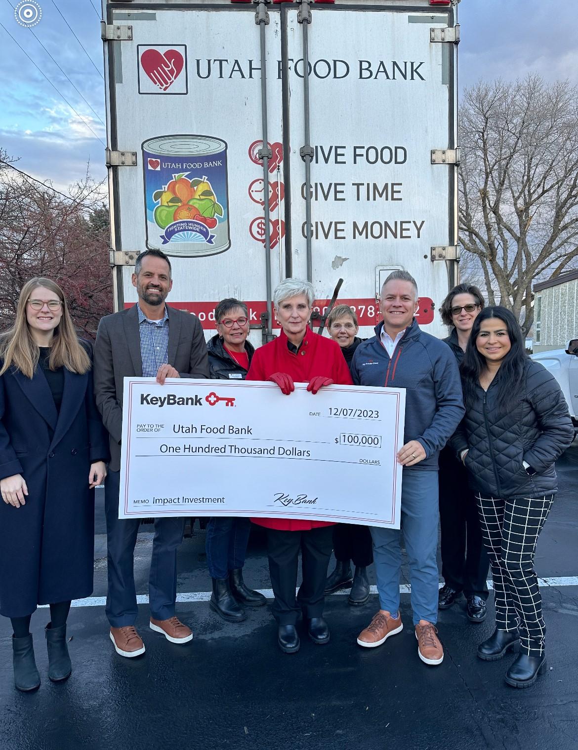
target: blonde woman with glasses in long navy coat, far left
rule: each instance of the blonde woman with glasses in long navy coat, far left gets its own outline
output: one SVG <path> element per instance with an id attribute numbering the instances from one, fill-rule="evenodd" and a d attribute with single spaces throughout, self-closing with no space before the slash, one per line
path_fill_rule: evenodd
<path id="1" fill-rule="evenodd" d="M 0 613 L 12 621 L 20 690 L 40 685 L 29 632 L 38 604 L 50 604 L 48 676 L 59 682 L 71 673 L 71 600 L 92 593 L 94 487 L 108 447 L 91 353 L 60 287 L 27 282 L 0 338 Z"/>

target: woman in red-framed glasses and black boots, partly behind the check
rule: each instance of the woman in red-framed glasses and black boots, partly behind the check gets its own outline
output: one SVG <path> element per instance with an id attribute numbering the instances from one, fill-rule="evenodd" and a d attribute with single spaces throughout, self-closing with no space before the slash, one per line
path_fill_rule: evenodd
<path id="1" fill-rule="evenodd" d="M 247 306 L 238 299 L 221 299 L 215 308 L 217 333 L 206 345 L 212 378 L 245 380 L 254 347 L 247 341 Z M 212 578 L 209 607 L 228 622 L 241 622 L 243 607 L 262 607 L 263 594 L 245 586 L 242 568 L 251 520 L 249 518 L 210 518 L 206 526 L 206 561 Z"/>

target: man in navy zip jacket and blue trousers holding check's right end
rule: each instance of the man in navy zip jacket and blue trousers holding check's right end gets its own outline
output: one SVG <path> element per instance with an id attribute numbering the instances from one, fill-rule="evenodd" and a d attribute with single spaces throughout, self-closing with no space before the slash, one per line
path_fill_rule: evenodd
<path id="1" fill-rule="evenodd" d="M 411 608 L 418 655 L 441 664 L 438 618 L 438 454 L 464 415 L 462 385 L 450 347 L 420 330 L 417 284 L 406 271 L 391 273 L 381 288 L 384 322 L 357 347 L 351 376 L 360 386 L 405 389 L 405 445 L 402 464 L 402 532 L 408 553 Z M 400 532 L 372 527 L 380 610 L 357 643 L 381 646 L 402 631 L 399 616 Z"/>

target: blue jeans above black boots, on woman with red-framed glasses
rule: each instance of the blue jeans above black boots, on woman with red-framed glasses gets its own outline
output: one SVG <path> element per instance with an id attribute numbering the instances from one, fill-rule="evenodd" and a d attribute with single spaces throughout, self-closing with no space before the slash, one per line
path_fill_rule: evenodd
<path id="1" fill-rule="evenodd" d="M 212 578 L 226 578 L 245 565 L 250 518 L 209 518 L 206 524 L 206 562 Z"/>

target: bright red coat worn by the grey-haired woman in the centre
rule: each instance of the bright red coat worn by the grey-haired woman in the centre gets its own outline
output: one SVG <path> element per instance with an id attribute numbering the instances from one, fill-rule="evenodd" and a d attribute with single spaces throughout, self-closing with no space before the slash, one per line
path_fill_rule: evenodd
<path id="1" fill-rule="evenodd" d="M 287 336 L 281 335 L 253 355 L 245 380 L 267 380 L 274 373 L 287 373 L 295 383 L 309 383 L 316 375 L 330 377 L 341 386 L 352 386 L 351 374 L 339 344 L 307 329 L 303 344 L 297 354 L 287 349 Z M 291 398 L 291 395 L 287 396 Z M 318 526 L 333 526 L 322 520 L 293 518 L 251 518 L 253 523 L 281 531 L 309 531 Z"/>

